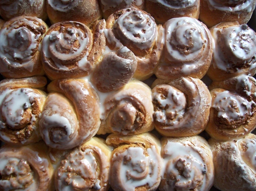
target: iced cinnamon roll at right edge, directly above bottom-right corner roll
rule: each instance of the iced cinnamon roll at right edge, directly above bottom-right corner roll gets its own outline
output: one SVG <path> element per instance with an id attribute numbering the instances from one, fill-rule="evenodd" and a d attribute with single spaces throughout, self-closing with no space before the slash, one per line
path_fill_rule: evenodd
<path id="1" fill-rule="evenodd" d="M 235 139 L 255 129 L 255 102 L 246 100 L 235 91 L 215 88 L 210 93 L 212 106 L 205 131 L 212 138 Z"/>

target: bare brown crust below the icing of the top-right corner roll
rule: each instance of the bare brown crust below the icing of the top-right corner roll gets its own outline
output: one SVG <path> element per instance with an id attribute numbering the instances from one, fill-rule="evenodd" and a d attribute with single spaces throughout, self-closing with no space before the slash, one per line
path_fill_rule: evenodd
<path id="1" fill-rule="evenodd" d="M 200 2 L 200 14 L 199 19 L 206 24 L 208 28 L 213 27 L 215 24 L 221 22 L 233 22 L 238 21 L 240 24 L 247 23 L 251 15 L 253 14 L 253 10 L 255 8 L 255 3 L 251 7 L 250 12 L 230 12 L 230 11 L 222 11 L 218 9 L 211 10 L 208 5 L 208 0 L 202 0 Z M 226 1 L 223 1 L 226 2 Z M 239 2 L 239 1 L 238 1 Z"/>

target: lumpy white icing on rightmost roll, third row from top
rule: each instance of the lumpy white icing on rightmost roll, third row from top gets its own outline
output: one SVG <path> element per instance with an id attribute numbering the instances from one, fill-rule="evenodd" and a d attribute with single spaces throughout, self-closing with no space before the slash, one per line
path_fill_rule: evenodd
<path id="1" fill-rule="evenodd" d="M 245 98 L 229 91 L 214 92 L 216 97 L 212 107 L 218 111 L 218 117 L 227 119 L 229 122 L 234 120 L 244 120 L 245 115 L 251 115 L 251 103 Z"/>

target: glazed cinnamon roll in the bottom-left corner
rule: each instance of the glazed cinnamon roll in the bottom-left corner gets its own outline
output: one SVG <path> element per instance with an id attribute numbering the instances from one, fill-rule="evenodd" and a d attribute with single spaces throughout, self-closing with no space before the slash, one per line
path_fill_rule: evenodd
<path id="1" fill-rule="evenodd" d="M 48 191 L 53 188 L 53 167 L 45 144 L 0 149 L 0 190 Z"/>

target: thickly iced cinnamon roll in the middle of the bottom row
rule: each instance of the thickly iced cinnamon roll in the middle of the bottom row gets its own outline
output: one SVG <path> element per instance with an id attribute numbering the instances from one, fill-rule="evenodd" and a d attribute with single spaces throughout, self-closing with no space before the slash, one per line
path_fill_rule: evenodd
<path id="1" fill-rule="evenodd" d="M 114 191 L 155 191 L 161 179 L 160 141 L 151 133 L 110 134 L 112 152 L 109 182 Z"/>

